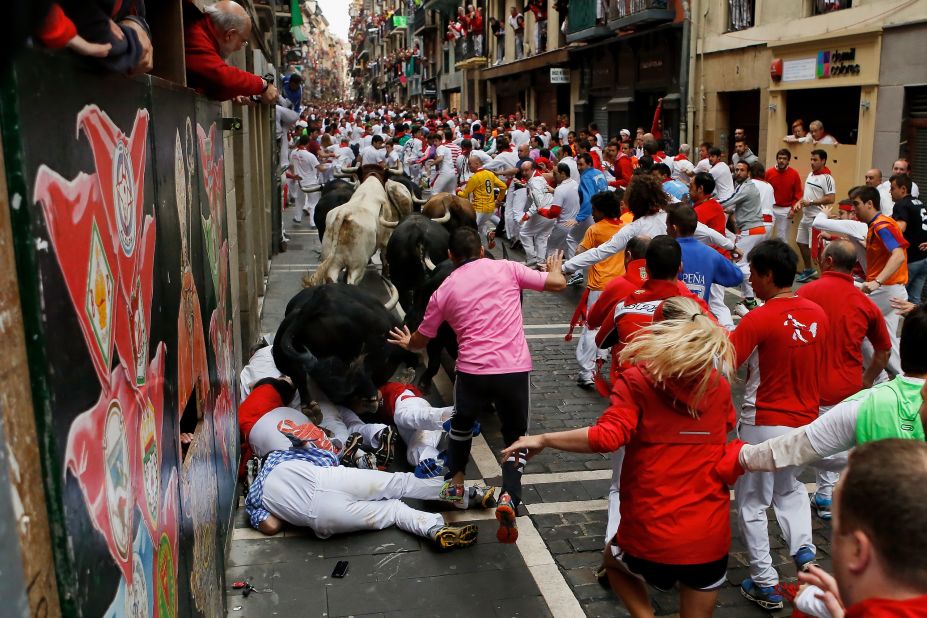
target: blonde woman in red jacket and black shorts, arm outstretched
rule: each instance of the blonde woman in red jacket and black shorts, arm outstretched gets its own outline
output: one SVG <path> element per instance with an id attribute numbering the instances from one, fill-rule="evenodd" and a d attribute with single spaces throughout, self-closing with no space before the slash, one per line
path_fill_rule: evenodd
<path id="1" fill-rule="evenodd" d="M 653 616 L 644 583 L 679 583 L 680 614 L 710 616 L 725 582 L 727 486 L 714 472 L 734 426 L 734 348 L 693 300 L 674 296 L 621 352 L 630 367 L 592 427 L 524 436 L 503 451 L 608 453 L 625 446 L 621 524 L 605 548 L 612 589 L 635 617 Z M 736 452 L 736 451 L 735 451 Z"/>

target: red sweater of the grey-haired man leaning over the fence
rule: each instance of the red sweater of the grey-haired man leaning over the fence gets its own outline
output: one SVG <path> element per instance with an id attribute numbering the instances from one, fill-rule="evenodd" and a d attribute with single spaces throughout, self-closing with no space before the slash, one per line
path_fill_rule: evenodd
<path id="1" fill-rule="evenodd" d="M 264 92 L 262 77 L 226 64 L 216 40 L 212 20 L 206 15 L 184 29 L 187 85 L 219 101 Z"/>

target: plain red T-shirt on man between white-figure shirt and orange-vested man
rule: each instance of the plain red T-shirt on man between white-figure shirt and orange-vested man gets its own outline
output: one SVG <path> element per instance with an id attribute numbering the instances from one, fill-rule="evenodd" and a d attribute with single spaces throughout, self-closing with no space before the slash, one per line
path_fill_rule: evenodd
<path id="1" fill-rule="evenodd" d="M 869 339 L 877 351 L 892 349 L 885 319 L 875 303 L 856 289 L 853 277 L 844 273 L 825 272 L 796 294 L 820 305 L 830 318 L 821 405 L 835 405 L 863 388 L 863 339 Z"/>

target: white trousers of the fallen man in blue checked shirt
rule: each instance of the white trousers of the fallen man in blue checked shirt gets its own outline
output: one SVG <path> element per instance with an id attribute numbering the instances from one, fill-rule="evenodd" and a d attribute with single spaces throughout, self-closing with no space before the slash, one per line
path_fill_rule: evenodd
<path id="1" fill-rule="evenodd" d="M 305 479 L 305 486 L 299 488 L 265 481 L 264 506 L 271 513 L 280 513 L 275 505 L 292 507 L 294 497 L 298 496 L 300 502 L 305 502 L 305 508 L 301 509 L 301 514 L 287 508 L 286 521 L 296 526 L 308 526 L 320 538 L 357 530 L 382 530 L 390 526 L 427 537 L 431 528 L 444 524 L 440 514 L 418 511 L 401 500 L 437 500 L 444 482 L 441 478 L 419 479 L 410 472 L 391 473 L 343 466 L 322 468 L 306 465 L 300 466 L 299 471 Z M 268 481 L 274 472 L 268 475 Z M 281 495 L 283 492 L 288 493 Z"/>

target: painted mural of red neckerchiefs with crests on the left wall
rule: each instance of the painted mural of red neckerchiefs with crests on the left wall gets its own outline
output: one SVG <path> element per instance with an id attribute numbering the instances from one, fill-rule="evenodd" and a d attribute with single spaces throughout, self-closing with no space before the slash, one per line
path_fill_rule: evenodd
<path id="1" fill-rule="evenodd" d="M 29 205 L 14 234 L 34 238 L 17 263 L 39 300 L 27 339 L 62 606 L 212 618 L 239 456 L 221 116 L 189 90 L 75 70 L 27 54 L 16 78 L 39 87 L 0 101 L 20 121 L 6 172 Z M 48 96 L 56 79 L 83 86 Z"/>

